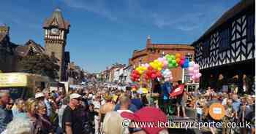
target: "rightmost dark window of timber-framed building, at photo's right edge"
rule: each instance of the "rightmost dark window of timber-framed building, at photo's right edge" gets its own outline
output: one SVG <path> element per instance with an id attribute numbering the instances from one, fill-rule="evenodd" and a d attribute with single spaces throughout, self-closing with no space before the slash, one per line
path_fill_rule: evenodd
<path id="1" fill-rule="evenodd" d="M 255 40 L 255 16 L 249 15 L 247 17 L 247 42 L 253 42 Z"/>

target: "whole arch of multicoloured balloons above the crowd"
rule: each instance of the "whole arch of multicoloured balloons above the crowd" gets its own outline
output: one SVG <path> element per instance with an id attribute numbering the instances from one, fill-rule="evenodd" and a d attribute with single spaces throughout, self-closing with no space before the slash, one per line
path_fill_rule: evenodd
<path id="1" fill-rule="evenodd" d="M 142 64 L 132 71 L 131 79 L 133 82 L 140 82 L 148 79 L 161 78 L 162 76 L 166 81 L 171 81 L 173 76 L 171 68 L 188 68 L 189 75 L 192 76 L 193 81 L 198 81 L 202 74 L 199 73 L 199 66 L 195 62 L 189 62 L 189 59 L 182 56 L 180 53 L 176 55 L 165 55 L 165 57 L 157 58 L 149 64 Z M 143 78 L 143 79 L 142 79 Z"/>

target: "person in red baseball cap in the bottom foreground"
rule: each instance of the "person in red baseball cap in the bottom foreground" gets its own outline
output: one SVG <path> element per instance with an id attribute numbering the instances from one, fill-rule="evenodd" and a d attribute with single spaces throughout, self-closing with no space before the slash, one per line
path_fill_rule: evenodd
<path id="1" fill-rule="evenodd" d="M 124 111 L 121 113 L 121 117 L 124 119 L 130 119 L 132 122 L 153 122 L 154 127 L 149 125 L 139 126 L 129 126 L 129 133 L 132 134 L 167 134 L 167 116 L 163 111 L 154 107 L 143 107 L 142 109 L 136 111 L 135 113 L 130 113 Z M 158 127 L 157 125 L 160 124 Z M 161 125 L 165 124 L 165 125 Z"/>

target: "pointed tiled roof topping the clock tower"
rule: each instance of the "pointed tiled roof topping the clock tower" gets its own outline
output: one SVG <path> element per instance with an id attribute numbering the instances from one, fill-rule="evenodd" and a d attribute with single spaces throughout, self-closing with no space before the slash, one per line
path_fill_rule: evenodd
<path id="1" fill-rule="evenodd" d="M 55 9 L 53 15 L 45 20 L 43 28 L 49 28 L 50 26 L 57 26 L 58 28 L 69 30 L 70 23 L 64 20 L 61 9 Z"/>

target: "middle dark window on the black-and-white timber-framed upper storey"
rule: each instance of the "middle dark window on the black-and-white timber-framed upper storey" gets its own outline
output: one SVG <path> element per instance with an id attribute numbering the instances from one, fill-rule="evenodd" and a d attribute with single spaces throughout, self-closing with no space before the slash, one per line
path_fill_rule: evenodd
<path id="1" fill-rule="evenodd" d="M 219 33 L 219 51 L 222 52 L 230 48 L 230 28 L 227 28 Z"/>

